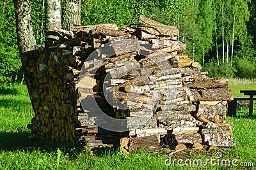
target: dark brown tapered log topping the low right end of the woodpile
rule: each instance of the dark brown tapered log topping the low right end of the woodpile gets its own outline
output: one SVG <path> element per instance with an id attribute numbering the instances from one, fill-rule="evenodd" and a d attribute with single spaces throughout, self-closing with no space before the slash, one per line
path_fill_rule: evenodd
<path id="1" fill-rule="evenodd" d="M 228 87 L 228 79 L 220 78 L 217 80 L 214 79 L 204 79 L 196 80 L 193 82 L 184 83 L 184 87 L 189 87 L 191 89 L 214 89 L 214 88 L 223 88 Z"/>

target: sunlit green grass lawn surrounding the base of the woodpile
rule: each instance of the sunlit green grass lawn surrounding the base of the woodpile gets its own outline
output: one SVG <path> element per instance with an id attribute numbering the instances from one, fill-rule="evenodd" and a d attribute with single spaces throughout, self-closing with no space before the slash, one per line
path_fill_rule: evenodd
<path id="1" fill-rule="evenodd" d="M 253 86 L 255 88 L 256 83 Z M 241 89 L 243 86 L 230 87 L 234 97 L 239 97 L 239 90 L 245 90 Z M 243 88 L 247 86 L 244 85 Z M 58 143 L 29 140 L 26 125 L 33 117 L 33 110 L 26 87 L 0 87 L 0 169 L 203 169 L 206 165 L 200 166 L 199 162 L 197 166 L 198 159 L 202 160 L 202 164 L 207 162 L 207 169 L 253 169 L 256 167 L 256 120 L 255 117 L 247 118 L 248 110 L 244 108 L 239 110 L 237 115 L 239 114 L 240 117 L 237 118 L 227 117 L 236 138 L 237 146 L 234 148 L 186 150 L 175 154 L 171 159 L 167 154 L 172 152 L 170 150 L 165 150 L 166 153 L 138 150 L 132 155 L 125 155 L 116 149 L 92 155 L 88 150 L 78 152 L 63 145 L 58 149 Z M 191 166 L 179 166 L 179 159 L 182 160 L 180 164 L 186 161 L 187 164 L 191 162 Z M 211 163 L 211 159 L 216 160 Z M 225 166 L 227 159 L 233 160 L 237 166 Z M 224 160 L 223 166 L 221 160 Z M 164 162 L 170 162 L 170 166 L 166 166 Z"/>

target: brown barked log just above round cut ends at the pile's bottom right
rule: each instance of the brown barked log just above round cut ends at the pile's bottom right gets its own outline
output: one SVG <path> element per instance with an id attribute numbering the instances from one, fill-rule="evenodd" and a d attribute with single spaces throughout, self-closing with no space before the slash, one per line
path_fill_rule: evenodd
<path id="1" fill-rule="evenodd" d="M 172 143 L 202 143 L 200 134 L 172 134 Z"/>

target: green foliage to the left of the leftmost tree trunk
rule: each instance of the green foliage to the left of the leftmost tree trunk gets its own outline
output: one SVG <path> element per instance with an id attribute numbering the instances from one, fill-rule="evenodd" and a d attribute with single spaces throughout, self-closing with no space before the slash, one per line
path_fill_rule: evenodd
<path id="1" fill-rule="evenodd" d="M 12 1 L 0 1 L 0 11 L 0 83 L 8 83 L 21 67 Z"/>

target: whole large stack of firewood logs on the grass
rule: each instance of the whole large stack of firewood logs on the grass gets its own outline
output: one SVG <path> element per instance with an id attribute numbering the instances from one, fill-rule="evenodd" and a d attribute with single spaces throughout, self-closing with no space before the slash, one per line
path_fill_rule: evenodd
<path id="1" fill-rule="evenodd" d="M 139 23 L 120 30 L 115 24 L 55 29 L 58 42 L 26 60 L 32 137 L 79 139 L 91 148 L 120 145 L 124 152 L 130 146 L 234 146 L 225 122 L 228 80 L 200 71 L 184 54 L 186 44 L 176 41 L 176 27 L 142 15 Z M 125 120 L 126 132 L 100 127 L 100 111 Z"/>

